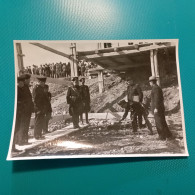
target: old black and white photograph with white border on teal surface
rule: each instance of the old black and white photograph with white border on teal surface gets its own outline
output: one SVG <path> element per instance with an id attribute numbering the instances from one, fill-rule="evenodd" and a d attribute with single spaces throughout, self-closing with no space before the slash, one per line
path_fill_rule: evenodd
<path id="1" fill-rule="evenodd" d="M 178 43 L 15 40 L 7 160 L 188 156 Z"/>

